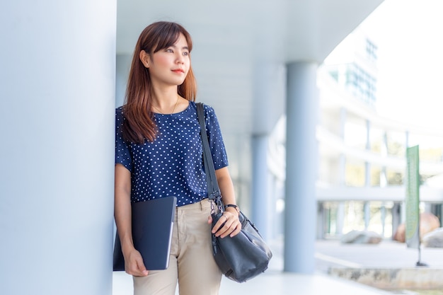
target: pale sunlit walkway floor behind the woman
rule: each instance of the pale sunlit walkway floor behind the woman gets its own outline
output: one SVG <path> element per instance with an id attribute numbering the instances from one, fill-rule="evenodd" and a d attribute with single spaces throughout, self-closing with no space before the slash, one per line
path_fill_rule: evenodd
<path id="1" fill-rule="evenodd" d="M 224 278 L 220 295 L 392 295 L 389 291 L 330 277 L 328 268 L 414 267 L 418 261 L 418 250 L 406 248 L 403 243 L 383 241 L 379 245 L 342 245 L 338 241 L 317 241 L 316 273 L 292 274 L 281 271 L 281 244 L 272 244 L 274 257 L 267 272 L 243 284 Z M 443 249 L 423 248 L 421 256 L 421 261 L 430 267 L 443 267 Z M 113 295 L 132 295 L 132 278 L 129 275 L 114 273 Z"/>

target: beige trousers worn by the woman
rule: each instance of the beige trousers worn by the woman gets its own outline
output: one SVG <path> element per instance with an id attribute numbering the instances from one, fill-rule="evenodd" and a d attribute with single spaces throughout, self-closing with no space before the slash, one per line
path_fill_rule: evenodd
<path id="1" fill-rule="evenodd" d="M 222 273 L 212 256 L 211 203 L 204 199 L 176 208 L 169 267 L 134 278 L 134 295 L 219 294 Z"/>

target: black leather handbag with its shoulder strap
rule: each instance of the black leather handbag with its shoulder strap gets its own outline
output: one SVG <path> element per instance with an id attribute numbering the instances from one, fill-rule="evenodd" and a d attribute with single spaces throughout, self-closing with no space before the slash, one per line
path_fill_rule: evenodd
<path id="1" fill-rule="evenodd" d="M 208 198 L 214 202 L 212 226 L 224 212 L 222 195 L 215 176 L 209 142 L 207 139 L 205 112 L 202 103 L 197 103 L 197 117 L 200 123 L 200 134 L 203 142 L 203 162 L 207 175 Z M 234 237 L 216 237 L 212 234 L 214 260 L 222 273 L 235 282 L 246 282 L 267 270 L 272 252 L 263 241 L 254 224 L 240 212 L 241 232 Z"/>

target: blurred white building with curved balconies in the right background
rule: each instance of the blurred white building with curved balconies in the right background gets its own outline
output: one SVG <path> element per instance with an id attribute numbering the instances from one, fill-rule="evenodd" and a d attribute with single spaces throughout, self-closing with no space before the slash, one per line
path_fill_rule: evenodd
<path id="1" fill-rule="evenodd" d="M 442 223 L 443 130 L 379 115 L 377 49 L 359 26 L 318 69 L 318 238 L 350 231 L 393 238 L 405 222 L 405 151 L 414 145 L 420 146 L 420 212 Z"/>

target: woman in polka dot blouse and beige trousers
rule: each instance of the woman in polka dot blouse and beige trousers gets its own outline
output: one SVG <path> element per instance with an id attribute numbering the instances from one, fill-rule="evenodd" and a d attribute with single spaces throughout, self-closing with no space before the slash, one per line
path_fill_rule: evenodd
<path id="1" fill-rule="evenodd" d="M 222 238 L 241 230 L 226 151 L 214 110 L 205 105 L 207 133 L 226 212 L 211 229 L 202 167 L 202 141 L 190 64 L 192 40 L 177 23 L 146 27 L 134 50 L 125 104 L 116 110 L 115 221 L 134 278 L 134 294 L 218 294 L 222 279 L 210 231 Z M 131 202 L 177 197 L 167 270 L 146 270 L 134 248 Z M 226 206 L 227 205 L 227 206 Z"/>

